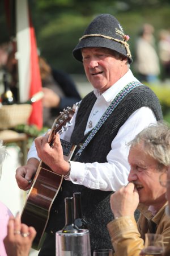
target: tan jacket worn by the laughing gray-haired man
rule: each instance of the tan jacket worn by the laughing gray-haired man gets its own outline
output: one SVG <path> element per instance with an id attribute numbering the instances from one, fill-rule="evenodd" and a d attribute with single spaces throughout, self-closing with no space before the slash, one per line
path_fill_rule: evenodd
<path id="1" fill-rule="evenodd" d="M 139 256 L 144 247 L 145 233 L 163 234 L 166 246 L 170 237 L 170 218 L 164 213 L 165 205 L 154 217 L 141 205 L 138 224 L 133 216 L 124 216 L 109 222 L 107 227 L 115 251 L 114 256 Z M 156 232 L 149 228 L 148 220 L 154 222 Z"/>

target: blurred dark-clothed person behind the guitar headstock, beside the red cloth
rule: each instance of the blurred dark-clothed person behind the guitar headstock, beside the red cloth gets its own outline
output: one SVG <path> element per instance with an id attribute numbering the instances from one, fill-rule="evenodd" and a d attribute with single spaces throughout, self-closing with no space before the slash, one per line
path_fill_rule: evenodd
<path id="1" fill-rule="evenodd" d="M 44 58 L 39 57 L 42 80 L 43 123 L 52 127 L 59 112 L 81 100 L 76 85 L 68 73 L 51 68 Z"/>

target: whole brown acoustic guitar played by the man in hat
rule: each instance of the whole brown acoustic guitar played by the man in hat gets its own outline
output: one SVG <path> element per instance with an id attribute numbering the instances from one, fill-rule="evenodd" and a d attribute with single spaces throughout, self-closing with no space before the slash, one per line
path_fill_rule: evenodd
<path id="1" fill-rule="evenodd" d="M 48 143 L 51 147 L 57 132 L 61 134 L 72 125 L 70 120 L 76 108 L 76 105 L 73 105 L 73 108 L 67 107 L 54 121 L 48 138 Z M 76 146 L 62 139 L 61 144 L 64 159 L 70 160 Z M 33 249 L 39 250 L 44 240 L 44 232 L 49 220 L 50 209 L 61 187 L 62 180 L 63 175 L 56 174 L 44 162 L 40 161 L 21 214 L 22 223 L 33 226 L 36 229 L 37 234 L 32 243 Z"/>

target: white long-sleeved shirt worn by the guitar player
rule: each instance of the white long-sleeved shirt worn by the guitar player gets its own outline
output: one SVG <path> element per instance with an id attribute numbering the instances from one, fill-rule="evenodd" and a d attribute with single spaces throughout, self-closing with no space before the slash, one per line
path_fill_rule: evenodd
<path id="1" fill-rule="evenodd" d="M 96 89 L 94 89 L 97 100 L 91 110 L 84 134 L 87 134 L 88 131 L 95 127 L 96 123 L 116 97 L 117 93 L 132 81 L 138 80 L 135 79 L 133 73 L 129 69 L 129 71 L 121 77 L 120 80 L 118 80 L 103 94 L 100 94 Z M 76 113 L 72 119 L 73 126 L 60 135 L 61 139 L 65 139 L 70 142 L 70 137 L 74 129 L 75 118 Z M 142 107 L 136 110 L 130 115 L 124 125 L 122 125 L 116 137 L 113 139 L 111 144 L 112 149 L 107 155 L 107 162 L 79 163 L 71 161 L 71 172 L 68 180 L 75 184 L 103 191 L 117 191 L 122 187 L 122 185 L 128 184 L 128 175 L 130 171 L 128 163 L 129 146 L 126 145 L 141 130 L 150 125 L 150 123 L 155 122 L 155 115 L 150 108 Z M 39 159 L 36 154 L 34 143 L 28 152 L 28 159 L 32 157 Z"/>

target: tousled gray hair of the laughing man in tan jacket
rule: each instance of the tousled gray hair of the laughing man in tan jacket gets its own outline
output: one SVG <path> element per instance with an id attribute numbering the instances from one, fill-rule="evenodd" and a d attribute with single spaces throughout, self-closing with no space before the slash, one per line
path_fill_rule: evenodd
<path id="1" fill-rule="evenodd" d="M 141 133 L 128 143 L 134 147 L 143 142 L 146 154 L 163 166 L 170 164 L 170 126 L 159 121 L 143 129 Z"/>

